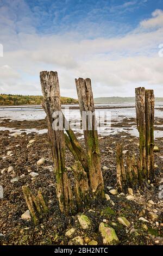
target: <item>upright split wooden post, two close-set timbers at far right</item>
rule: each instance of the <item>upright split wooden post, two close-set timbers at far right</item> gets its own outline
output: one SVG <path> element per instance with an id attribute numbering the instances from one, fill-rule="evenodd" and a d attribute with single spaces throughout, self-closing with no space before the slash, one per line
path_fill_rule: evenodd
<path id="1" fill-rule="evenodd" d="M 147 179 L 154 176 L 154 93 L 153 90 L 139 87 L 135 89 L 135 94 L 136 120 L 140 141 L 139 168 L 142 170 L 143 178 Z"/>

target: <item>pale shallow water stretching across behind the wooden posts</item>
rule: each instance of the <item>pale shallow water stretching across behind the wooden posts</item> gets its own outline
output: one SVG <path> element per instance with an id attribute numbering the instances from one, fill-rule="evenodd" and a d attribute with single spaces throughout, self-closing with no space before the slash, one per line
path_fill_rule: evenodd
<path id="1" fill-rule="evenodd" d="M 70 125 L 72 129 L 75 132 L 80 132 L 83 134 L 83 132 L 80 129 L 80 111 L 79 109 L 67 109 L 68 106 L 72 105 L 66 105 L 66 109 L 64 111 L 65 117 L 70 120 Z M 73 105 L 77 106 L 77 105 Z M 124 106 L 134 106 L 133 104 L 101 104 L 96 105 L 96 107 L 120 107 L 120 108 L 96 108 L 96 120 L 98 126 L 98 133 L 101 136 L 108 136 L 108 135 L 114 135 L 118 132 L 127 132 L 131 135 L 138 136 L 139 133 L 137 132 L 137 129 L 135 127 L 134 123 L 130 123 L 130 127 L 111 127 L 111 124 L 118 124 L 121 123 L 125 118 L 135 118 L 135 108 L 121 108 Z M 156 103 L 155 108 L 157 107 L 163 107 L 163 102 Z M 1 107 L 0 108 L 0 118 L 4 119 L 11 119 L 11 120 L 40 120 L 44 119 L 46 117 L 45 112 L 40 106 L 13 106 L 13 107 Z M 155 117 L 156 118 L 163 118 L 163 111 L 160 111 L 159 109 L 155 109 Z M 99 123 L 100 120 L 100 123 Z M 162 127 L 162 125 L 156 125 L 158 127 Z M 128 130 L 130 129 L 130 130 Z M 0 130 L 9 130 L 11 132 L 21 133 L 22 131 L 17 129 L 10 129 L 5 127 L 0 127 Z M 38 132 L 38 133 L 44 133 L 47 132 L 46 129 L 44 130 L 36 130 L 36 129 L 26 129 L 27 133 L 29 132 Z M 154 135 L 156 138 L 163 137 L 163 131 L 154 131 Z M 83 136 L 82 136 L 83 137 Z"/>

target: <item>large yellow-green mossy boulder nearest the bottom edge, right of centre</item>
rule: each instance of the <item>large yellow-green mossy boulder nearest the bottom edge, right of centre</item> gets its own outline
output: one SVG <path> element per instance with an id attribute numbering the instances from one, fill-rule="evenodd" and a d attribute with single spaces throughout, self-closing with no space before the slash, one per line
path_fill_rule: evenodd
<path id="1" fill-rule="evenodd" d="M 116 245 L 119 242 L 119 239 L 115 233 L 114 228 L 109 227 L 103 222 L 99 224 L 99 232 L 103 237 L 104 245 Z"/>

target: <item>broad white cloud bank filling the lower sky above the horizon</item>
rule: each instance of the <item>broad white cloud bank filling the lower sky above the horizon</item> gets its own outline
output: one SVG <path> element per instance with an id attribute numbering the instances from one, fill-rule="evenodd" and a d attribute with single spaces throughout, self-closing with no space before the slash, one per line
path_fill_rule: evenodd
<path id="1" fill-rule="evenodd" d="M 126 35 L 88 40 L 82 38 L 80 26 L 62 35 L 37 34 L 34 28 L 37 18 L 32 19 L 26 3 L 19 7 L 20 2 L 23 1 L 16 0 L 13 8 L 27 8 L 27 18 L 24 12 L 16 17 L 14 10 L 11 15 L 8 8 L 0 8 L 3 93 L 40 94 L 39 72 L 57 70 L 63 96 L 77 96 L 74 78 L 78 77 L 92 79 L 96 97 L 134 95 L 134 88 L 141 85 L 153 87 L 160 95 L 163 58 L 158 56 L 158 46 L 163 42 L 162 10 L 155 10 L 150 19 Z M 134 3 L 127 2 L 123 8 L 134 7 Z"/>

